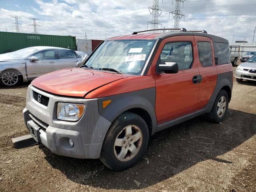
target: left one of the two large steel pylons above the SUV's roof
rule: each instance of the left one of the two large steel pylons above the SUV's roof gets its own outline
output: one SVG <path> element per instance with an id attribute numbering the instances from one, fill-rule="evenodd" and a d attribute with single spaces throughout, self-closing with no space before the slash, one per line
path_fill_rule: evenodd
<path id="1" fill-rule="evenodd" d="M 153 0 L 153 6 L 149 7 L 148 10 L 152 15 L 152 20 L 148 24 L 151 24 L 151 29 L 158 29 L 158 17 L 162 13 L 162 10 L 159 8 L 159 0 Z M 154 33 L 156 32 L 158 31 L 154 31 Z"/>

